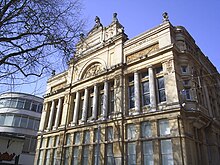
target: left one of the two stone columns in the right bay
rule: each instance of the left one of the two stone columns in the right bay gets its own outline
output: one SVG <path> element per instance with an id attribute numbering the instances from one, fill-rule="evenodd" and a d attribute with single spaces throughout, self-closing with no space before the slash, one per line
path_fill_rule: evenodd
<path id="1" fill-rule="evenodd" d="M 140 83 L 139 83 L 139 75 L 138 72 L 134 73 L 134 107 L 135 113 L 140 113 L 141 104 L 140 104 Z"/>

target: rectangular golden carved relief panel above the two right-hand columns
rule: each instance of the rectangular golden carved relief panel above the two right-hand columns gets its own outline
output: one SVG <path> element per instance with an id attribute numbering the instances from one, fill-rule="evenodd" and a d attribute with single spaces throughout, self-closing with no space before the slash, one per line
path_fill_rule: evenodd
<path id="1" fill-rule="evenodd" d="M 151 52 L 153 52 L 157 49 L 159 49 L 159 44 L 158 43 L 154 44 L 150 47 L 147 47 L 144 50 L 141 50 L 139 52 L 136 52 L 134 54 L 131 54 L 131 55 L 127 56 L 127 62 L 129 63 L 129 62 L 135 61 L 135 60 L 139 59 L 140 57 L 142 57 L 144 55 L 148 55 L 149 53 L 151 53 Z"/>

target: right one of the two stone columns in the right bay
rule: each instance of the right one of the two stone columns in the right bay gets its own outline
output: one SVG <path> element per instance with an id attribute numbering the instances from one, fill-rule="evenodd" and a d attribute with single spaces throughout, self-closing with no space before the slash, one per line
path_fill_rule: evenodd
<path id="1" fill-rule="evenodd" d="M 151 110 L 156 110 L 156 89 L 155 89 L 155 77 L 154 77 L 154 71 L 153 68 L 148 68 L 149 73 L 149 91 L 150 91 L 150 105 Z"/>

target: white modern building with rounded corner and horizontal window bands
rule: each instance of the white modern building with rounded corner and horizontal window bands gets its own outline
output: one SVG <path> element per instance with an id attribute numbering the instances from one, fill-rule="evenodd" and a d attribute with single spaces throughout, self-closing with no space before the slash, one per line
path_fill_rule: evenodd
<path id="1" fill-rule="evenodd" d="M 42 98 L 25 93 L 0 95 L 0 162 L 33 164 L 42 103 Z"/>

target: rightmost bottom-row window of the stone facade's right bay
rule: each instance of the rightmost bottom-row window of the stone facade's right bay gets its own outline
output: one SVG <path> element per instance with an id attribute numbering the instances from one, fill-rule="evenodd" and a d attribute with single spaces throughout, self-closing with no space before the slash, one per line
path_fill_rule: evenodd
<path id="1" fill-rule="evenodd" d="M 173 165 L 173 150 L 172 150 L 172 142 L 170 139 L 161 140 L 161 158 L 162 165 Z"/>

